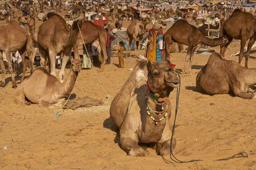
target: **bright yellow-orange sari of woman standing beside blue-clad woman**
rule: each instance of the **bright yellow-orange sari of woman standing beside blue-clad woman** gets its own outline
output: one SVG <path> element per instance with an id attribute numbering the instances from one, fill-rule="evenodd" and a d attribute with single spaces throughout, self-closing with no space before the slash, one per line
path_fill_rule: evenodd
<path id="1" fill-rule="evenodd" d="M 151 33 L 153 36 L 150 38 L 149 44 L 148 44 L 148 61 L 153 63 L 156 61 L 156 57 L 157 57 L 157 37 L 153 31 L 151 31 Z"/>

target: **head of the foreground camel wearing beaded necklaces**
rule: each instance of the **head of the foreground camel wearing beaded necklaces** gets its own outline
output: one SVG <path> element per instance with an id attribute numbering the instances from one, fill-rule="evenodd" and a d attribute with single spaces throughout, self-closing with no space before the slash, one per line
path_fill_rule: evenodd
<path id="1" fill-rule="evenodd" d="M 148 61 L 148 88 L 160 97 L 165 97 L 174 88 L 178 87 L 180 78 L 168 62 Z"/>

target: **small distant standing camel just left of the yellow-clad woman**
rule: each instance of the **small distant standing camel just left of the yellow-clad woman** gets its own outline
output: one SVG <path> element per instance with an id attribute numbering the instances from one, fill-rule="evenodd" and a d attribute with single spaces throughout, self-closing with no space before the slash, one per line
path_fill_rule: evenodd
<path id="1" fill-rule="evenodd" d="M 135 51 L 137 49 L 136 45 L 136 40 L 137 37 L 139 37 L 139 47 L 138 47 L 138 55 L 139 55 L 139 50 L 140 50 L 140 42 L 142 40 L 142 36 L 145 33 L 146 26 L 149 23 L 148 20 L 143 20 L 142 23 L 139 21 L 133 19 L 131 21 L 131 24 L 128 26 L 127 31 L 126 31 L 126 42 L 127 42 L 127 48 L 126 48 L 126 54 L 129 48 L 129 54 L 131 54 L 131 42 L 134 40 L 134 56 L 136 56 Z"/>

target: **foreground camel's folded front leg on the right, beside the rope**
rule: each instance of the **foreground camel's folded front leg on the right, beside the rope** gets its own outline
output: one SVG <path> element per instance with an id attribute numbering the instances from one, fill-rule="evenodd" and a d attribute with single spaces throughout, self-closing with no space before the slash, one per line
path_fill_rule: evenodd
<path id="1" fill-rule="evenodd" d="M 163 143 L 157 142 L 157 155 L 164 156 L 170 154 L 170 144 L 171 139 L 168 139 L 167 141 Z M 174 150 L 176 147 L 176 139 L 173 137 L 172 139 L 172 150 Z"/>

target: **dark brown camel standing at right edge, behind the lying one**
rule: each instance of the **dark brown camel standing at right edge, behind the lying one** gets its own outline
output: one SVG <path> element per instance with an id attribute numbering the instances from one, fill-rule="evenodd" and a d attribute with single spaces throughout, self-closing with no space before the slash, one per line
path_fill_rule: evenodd
<path id="1" fill-rule="evenodd" d="M 244 46 L 248 39 L 247 51 L 245 54 L 245 67 L 248 65 L 248 59 L 250 49 L 252 48 L 256 40 L 256 19 L 253 14 L 249 12 L 242 12 L 239 9 L 235 9 L 230 18 L 225 20 L 221 26 L 220 36 L 226 36 L 229 42 L 225 45 L 221 45 L 221 55 L 224 57 L 227 50 L 227 46 L 234 39 L 241 40 L 239 64 L 244 57 Z"/>

